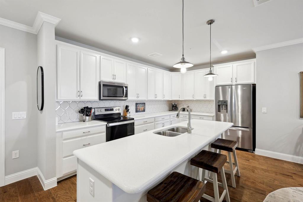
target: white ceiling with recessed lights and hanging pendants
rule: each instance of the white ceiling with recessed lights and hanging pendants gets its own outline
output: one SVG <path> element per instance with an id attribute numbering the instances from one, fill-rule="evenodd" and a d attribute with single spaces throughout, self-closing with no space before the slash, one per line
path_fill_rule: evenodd
<path id="1" fill-rule="evenodd" d="M 55 29 L 71 39 L 167 69 L 182 55 L 182 1 L 9 1 L 1 0 L 0 17 L 32 26 L 37 12 L 62 19 Z M 255 56 L 252 48 L 303 37 L 303 1 L 185 0 L 184 55 L 195 66 Z M 133 44 L 131 37 L 141 40 Z M 221 50 L 229 50 L 225 55 Z M 148 54 L 162 56 L 151 58 Z"/>

